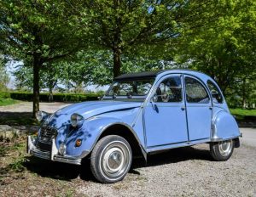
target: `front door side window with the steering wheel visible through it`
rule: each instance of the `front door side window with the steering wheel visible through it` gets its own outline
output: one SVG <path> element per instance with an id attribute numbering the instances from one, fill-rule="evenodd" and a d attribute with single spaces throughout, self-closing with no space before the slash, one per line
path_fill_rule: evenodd
<path id="1" fill-rule="evenodd" d="M 170 76 L 160 82 L 154 93 L 155 102 L 181 102 L 182 96 L 182 84 L 180 76 Z"/>

